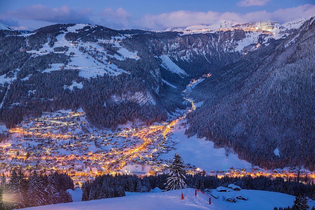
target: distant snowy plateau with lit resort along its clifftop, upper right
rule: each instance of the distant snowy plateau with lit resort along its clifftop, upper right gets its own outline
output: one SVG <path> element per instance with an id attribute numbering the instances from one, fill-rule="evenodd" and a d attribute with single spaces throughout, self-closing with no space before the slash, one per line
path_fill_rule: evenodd
<path id="1" fill-rule="evenodd" d="M 257 50 L 263 44 L 268 45 L 272 39 L 287 37 L 294 31 L 294 29 L 298 29 L 306 20 L 309 20 L 310 18 L 312 17 L 302 18 L 292 22 L 284 23 L 282 25 L 279 24 L 278 21 L 271 20 L 252 23 L 239 23 L 236 21 L 224 20 L 209 26 L 193 25 L 187 27 L 168 28 L 165 31 L 178 31 L 182 32 L 183 35 L 198 33 L 219 34 L 219 39 L 215 43 L 209 40 L 214 48 L 230 52 L 238 51 L 246 54 L 249 51 Z M 213 36 L 211 38 L 213 38 Z M 209 37 L 209 39 L 211 38 Z M 176 46 L 180 46 L 180 43 L 178 43 Z M 205 46 L 204 44 L 205 43 L 199 42 L 198 44 L 194 44 L 193 47 L 196 48 Z M 207 47 L 205 50 L 209 50 L 209 47 Z M 198 53 L 198 50 L 195 49 L 194 51 Z"/>

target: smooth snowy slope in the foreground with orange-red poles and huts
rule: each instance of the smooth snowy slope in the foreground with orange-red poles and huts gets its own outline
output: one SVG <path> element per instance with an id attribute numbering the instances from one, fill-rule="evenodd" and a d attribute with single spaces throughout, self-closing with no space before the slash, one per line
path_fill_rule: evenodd
<path id="1" fill-rule="evenodd" d="M 216 190 L 213 190 L 216 191 Z M 233 191 L 233 190 L 232 190 Z M 172 190 L 168 192 L 158 193 L 126 193 L 128 196 L 107 198 L 94 201 L 82 201 L 73 203 L 63 203 L 40 207 L 26 208 L 28 210 L 92 210 L 92 209 L 172 209 L 172 210 L 190 210 L 190 209 L 226 209 L 229 202 L 222 201 L 222 196 L 228 198 L 234 194 L 241 194 L 248 197 L 247 201 L 237 200 L 231 203 L 228 209 L 244 210 L 244 209 L 270 209 L 273 207 L 292 206 L 294 196 L 267 192 L 259 190 L 241 190 L 240 192 L 215 192 L 219 195 L 218 199 L 211 199 L 207 195 L 198 193 L 194 196 L 195 190 L 188 188 L 183 190 L 184 200 L 180 200 L 180 190 Z M 314 206 L 314 201 L 308 203 L 310 207 Z"/>

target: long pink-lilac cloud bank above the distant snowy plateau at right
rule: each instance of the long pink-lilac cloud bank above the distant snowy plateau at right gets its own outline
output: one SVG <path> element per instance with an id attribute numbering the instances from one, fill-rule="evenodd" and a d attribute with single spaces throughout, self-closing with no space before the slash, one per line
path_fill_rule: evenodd
<path id="1" fill-rule="evenodd" d="M 190 25 L 212 25 L 228 21 L 237 21 L 240 23 L 249 23 L 254 21 L 277 20 L 279 23 L 297 20 L 303 17 L 314 15 L 315 5 L 305 4 L 298 7 L 287 9 L 278 9 L 274 12 L 266 10 L 249 12 L 246 14 L 235 12 L 192 12 L 180 10 L 159 15 L 145 15 L 138 21 L 145 29 L 166 29 L 169 27 L 185 27 Z"/>

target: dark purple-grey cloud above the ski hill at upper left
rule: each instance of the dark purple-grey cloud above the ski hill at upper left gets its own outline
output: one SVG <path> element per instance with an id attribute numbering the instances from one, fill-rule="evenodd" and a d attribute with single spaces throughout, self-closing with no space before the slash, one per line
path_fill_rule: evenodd
<path id="1" fill-rule="evenodd" d="M 72 9 L 68 6 L 50 8 L 42 4 L 11 10 L 8 15 L 17 19 L 41 20 L 51 23 L 88 23 L 91 9 Z"/>

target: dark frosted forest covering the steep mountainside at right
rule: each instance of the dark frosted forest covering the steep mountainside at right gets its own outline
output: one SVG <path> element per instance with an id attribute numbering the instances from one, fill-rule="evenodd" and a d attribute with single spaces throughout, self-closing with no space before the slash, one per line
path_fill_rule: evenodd
<path id="1" fill-rule="evenodd" d="M 188 115 L 188 137 L 265 168 L 315 170 L 315 22 L 249 53 L 198 85 L 203 106 Z M 274 154 L 279 149 L 280 156 Z M 255 154 L 255 155 L 253 155 Z"/>

